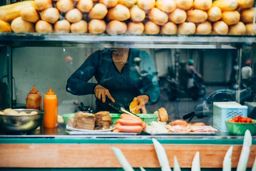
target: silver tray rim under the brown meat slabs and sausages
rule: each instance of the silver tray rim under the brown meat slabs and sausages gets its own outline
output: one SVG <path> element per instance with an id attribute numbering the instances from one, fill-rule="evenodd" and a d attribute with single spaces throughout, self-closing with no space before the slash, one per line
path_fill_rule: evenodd
<path id="1" fill-rule="evenodd" d="M 66 131 L 69 135 L 138 135 L 140 133 Z"/>

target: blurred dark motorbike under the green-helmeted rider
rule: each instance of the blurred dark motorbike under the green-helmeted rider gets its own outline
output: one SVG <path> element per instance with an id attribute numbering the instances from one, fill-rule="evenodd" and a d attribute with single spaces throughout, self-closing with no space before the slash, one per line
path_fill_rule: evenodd
<path id="1" fill-rule="evenodd" d="M 190 78 L 191 87 L 182 87 L 180 84 L 170 76 L 159 77 L 159 86 L 161 93 L 168 96 L 170 101 L 177 98 L 192 98 L 198 100 L 200 97 L 205 96 L 205 86 L 203 85 L 203 79 L 199 78 L 196 74 Z"/>

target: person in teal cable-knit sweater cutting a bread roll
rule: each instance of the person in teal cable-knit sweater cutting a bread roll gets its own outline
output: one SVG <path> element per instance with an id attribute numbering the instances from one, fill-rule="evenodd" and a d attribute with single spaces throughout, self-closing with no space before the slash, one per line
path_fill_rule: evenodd
<path id="1" fill-rule="evenodd" d="M 98 83 L 88 82 L 93 76 Z M 95 94 L 96 112 L 117 112 L 108 106 L 108 97 L 125 108 L 135 99 L 139 102 L 136 110 L 145 113 L 145 105 L 157 101 L 160 95 L 150 55 L 133 48 L 108 48 L 92 53 L 68 79 L 66 89 L 73 95 Z"/>

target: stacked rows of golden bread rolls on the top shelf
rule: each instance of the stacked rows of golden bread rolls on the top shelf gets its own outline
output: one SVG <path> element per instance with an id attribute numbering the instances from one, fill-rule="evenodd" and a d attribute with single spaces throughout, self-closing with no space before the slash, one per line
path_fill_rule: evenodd
<path id="1" fill-rule="evenodd" d="M 0 7 L 0 32 L 255 35 L 254 0 L 28 0 Z"/>

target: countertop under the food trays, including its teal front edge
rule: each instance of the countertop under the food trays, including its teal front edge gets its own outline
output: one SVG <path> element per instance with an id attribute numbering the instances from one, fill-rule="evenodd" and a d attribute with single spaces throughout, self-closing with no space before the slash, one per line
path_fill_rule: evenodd
<path id="1" fill-rule="evenodd" d="M 0 132 L 0 144 L 23 143 L 93 143 L 93 144 L 152 144 L 151 138 L 157 138 L 163 144 L 236 144 L 243 143 L 244 136 L 233 136 L 218 132 L 214 136 L 170 135 L 68 135 L 63 123 L 56 128 L 36 129 L 27 134 L 10 134 Z M 253 136 L 256 145 L 256 136 Z"/>

